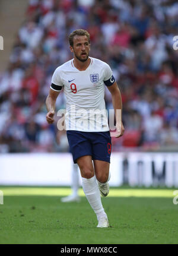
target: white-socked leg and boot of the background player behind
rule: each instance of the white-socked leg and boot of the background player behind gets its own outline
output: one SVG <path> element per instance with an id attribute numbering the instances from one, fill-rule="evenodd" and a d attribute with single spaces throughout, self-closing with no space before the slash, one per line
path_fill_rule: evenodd
<path id="1" fill-rule="evenodd" d="M 78 188 L 79 188 L 79 172 L 78 172 L 78 165 L 77 163 L 72 163 L 72 194 L 68 195 L 68 197 L 62 197 L 61 201 L 63 203 L 68 203 L 68 202 L 78 202 L 80 201 L 80 197 L 78 195 Z"/>

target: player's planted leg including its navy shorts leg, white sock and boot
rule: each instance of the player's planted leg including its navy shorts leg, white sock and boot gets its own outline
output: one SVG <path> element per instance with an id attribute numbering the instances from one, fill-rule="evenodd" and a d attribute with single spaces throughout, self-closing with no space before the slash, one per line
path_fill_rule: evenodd
<path id="1" fill-rule="evenodd" d="M 106 216 L 101 204 L 100 191 L 96 177 L 94 175 L 94 167 L 91 155 L 92 145 L 89 132 L 67 131 L 66 132 L 70 150 L 74 163 L 78 163 L 82 177 L 82 188 L 87 197 L 90 206 L 97 215 L 98 222 L 102 216 Z M 105 219 L 107 216 L 105 217 Z M 108 227 L 109 223 L 100 223 L 98 227 Z"/>

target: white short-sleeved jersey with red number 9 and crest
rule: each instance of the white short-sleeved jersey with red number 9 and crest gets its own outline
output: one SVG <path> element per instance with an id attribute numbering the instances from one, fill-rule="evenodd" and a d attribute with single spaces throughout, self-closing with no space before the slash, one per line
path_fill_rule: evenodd
<path id="1" fill-rule="evenodd" d="M 85 71 L 74 66 L 74 59 L 56 68 L 51 89 L 63 91 L 66 96 L 66 130 L 100 132 L 109 131 L 104 102 L 104 81 L 112 78 L 106 62 L 91 58 Z M 111 85 L 111 84 L 110 84 Z"/>

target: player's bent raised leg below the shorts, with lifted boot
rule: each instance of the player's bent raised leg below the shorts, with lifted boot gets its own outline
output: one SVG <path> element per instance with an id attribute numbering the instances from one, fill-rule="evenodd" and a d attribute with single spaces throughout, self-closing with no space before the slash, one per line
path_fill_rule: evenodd
<path id="1" fill-rule="evenodd" d="M 94 170 L 100 189 L 100 194 L 106 197 L 109 194 L 110 163 L 101 160 L 94 160 Z"/>

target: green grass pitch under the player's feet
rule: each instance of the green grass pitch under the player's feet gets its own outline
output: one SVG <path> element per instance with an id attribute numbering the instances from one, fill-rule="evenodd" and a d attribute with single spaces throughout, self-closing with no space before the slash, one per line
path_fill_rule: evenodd
<path id="1" fill-rule="evenodd" d="M 0 244 L 177 244 L 175 189 L 111 188 L 102 198 L 110 226 L 98 229 L 80 189 L 80 203 L 61 203 L 69 188 L 0 187 Z"/>

